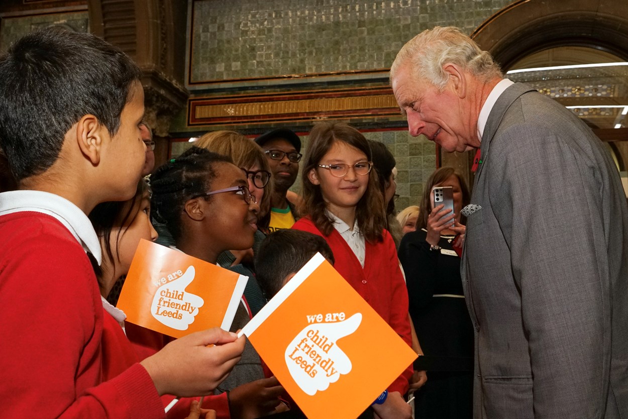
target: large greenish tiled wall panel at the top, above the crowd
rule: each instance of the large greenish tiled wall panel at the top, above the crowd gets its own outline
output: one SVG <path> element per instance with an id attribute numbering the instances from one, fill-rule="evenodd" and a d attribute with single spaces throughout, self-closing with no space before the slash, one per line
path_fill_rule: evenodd
<path id="1" fill-rule="evenodd" d="M 512 0 L 192 2 L 190 82 L 389 68 L 420 31 L 471 33 Z"/>

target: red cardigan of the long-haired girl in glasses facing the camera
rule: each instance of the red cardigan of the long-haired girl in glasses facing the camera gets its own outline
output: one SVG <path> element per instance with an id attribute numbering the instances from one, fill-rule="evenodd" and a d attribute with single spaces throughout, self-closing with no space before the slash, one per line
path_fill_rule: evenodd
<path id="1" fill-rule="evenodd" d="M 364 300 L 386 321 L 401 338 L 412 346 L 410 322 L 408 320 L 408 289 L 403 280 L 397 249 L 393 237 L 384 230 L 381 242 L 366 242 L 364 268 L 340 233 L 333 229 L 325 236 L 310 217 L 298 220 L 293 229 L 317 234 L 323 237 L 332 249 L 335 263 L 333 267 L 357 291 Z M 408 391 L 408 380 L 413 374 L 410 365 L 393 383 L 388 391 Z"/>

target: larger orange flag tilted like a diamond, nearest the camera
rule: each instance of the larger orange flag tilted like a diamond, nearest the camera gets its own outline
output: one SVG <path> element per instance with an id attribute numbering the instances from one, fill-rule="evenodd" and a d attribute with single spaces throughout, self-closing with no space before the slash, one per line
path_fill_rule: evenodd
<path id="1" fill-rule="evenodd" d="M 357 418 L 416 359 L 320 253 L 241 333 L 310 419 Z"/>

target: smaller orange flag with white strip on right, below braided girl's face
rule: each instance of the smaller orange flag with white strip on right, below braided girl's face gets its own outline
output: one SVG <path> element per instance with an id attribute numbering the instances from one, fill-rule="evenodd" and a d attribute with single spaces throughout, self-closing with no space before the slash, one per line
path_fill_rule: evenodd
<path id="1" fill-rule="evenodd" d="M 248 280 L 142 240 L 117 307 L 128 322 L 177 338 L 210 327 L 229 330 Z"/>

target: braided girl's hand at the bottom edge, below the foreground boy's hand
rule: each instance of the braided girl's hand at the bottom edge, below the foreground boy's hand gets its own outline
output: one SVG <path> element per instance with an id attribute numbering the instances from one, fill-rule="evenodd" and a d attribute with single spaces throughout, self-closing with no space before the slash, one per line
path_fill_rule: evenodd
<path id="1" fill-rule="evenodd" d="M 237 386 L 229 392 L 232 419 L 255 419 L 274 413 L 283 404 L 279 395 L 283 387 L 276 378 L 265 378 Z"/>

